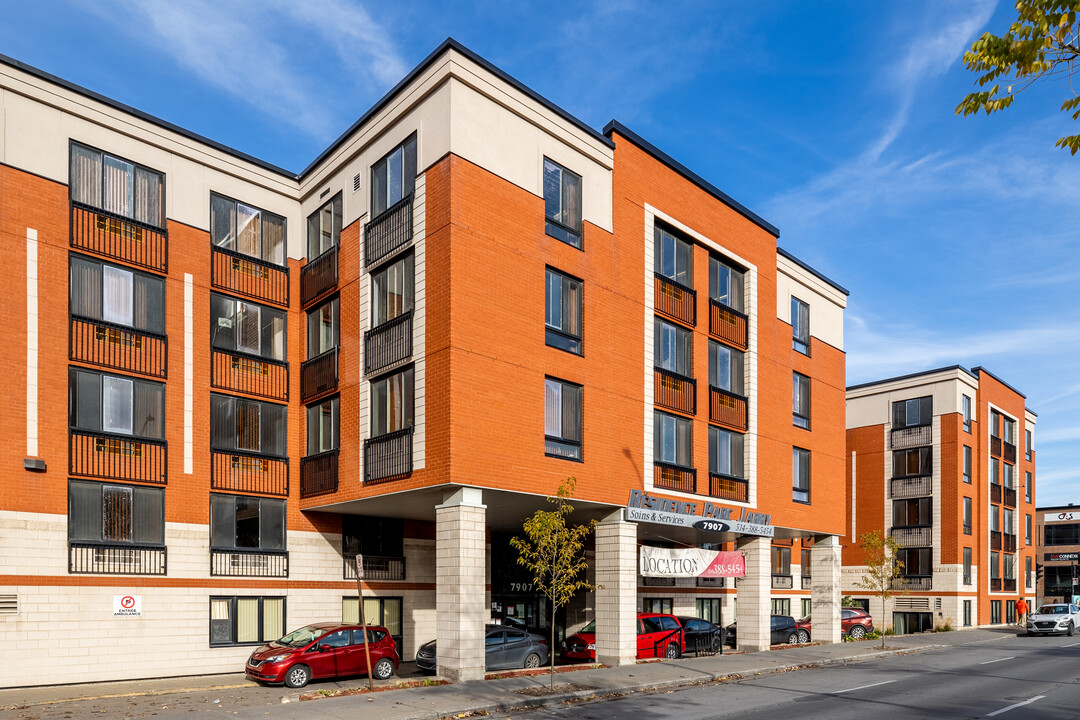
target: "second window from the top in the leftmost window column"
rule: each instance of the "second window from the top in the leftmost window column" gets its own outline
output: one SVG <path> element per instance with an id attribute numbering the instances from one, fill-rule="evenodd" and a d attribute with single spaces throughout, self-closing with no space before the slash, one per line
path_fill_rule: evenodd
<path id="1" fill-rule="evenodd" d="M 72 255 L 70 291 L 72 315 L 165 332 L 161 277 Z"/>

